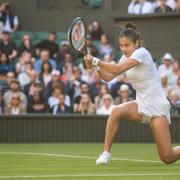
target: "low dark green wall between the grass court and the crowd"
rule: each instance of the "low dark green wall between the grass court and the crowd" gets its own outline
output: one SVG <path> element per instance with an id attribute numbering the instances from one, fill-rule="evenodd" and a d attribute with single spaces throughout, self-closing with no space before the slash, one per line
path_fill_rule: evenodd
<path id="1" fill-rule="evenodd" d="M 0 116 L 0 143 L 103 142 L 106 116 Z M 173 142 L 180 142 L 180 117 L 171 124 Z M 148 125 L 121 122 L 115 142 L 153 142 Z"/>

